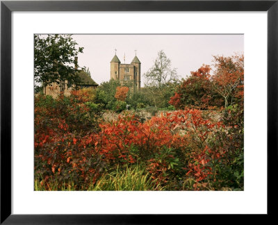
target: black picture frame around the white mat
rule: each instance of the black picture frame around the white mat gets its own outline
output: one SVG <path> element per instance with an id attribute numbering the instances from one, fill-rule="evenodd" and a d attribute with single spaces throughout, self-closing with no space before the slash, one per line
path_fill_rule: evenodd
<path id="1" fill-rule="evenodd" d="M 13 11 L 267 11 L 268 216 L 277 190 L 278 0 L 275 1 L 1 1 L 1 224 L 179 224 L 189 215 L 11 214 L 11 13 Z M 255 106 L 254 106 L 255 107 Z M 258 165 L 259 167 L 259 165 Z M 265 217 L 264 217 L 265 218 Z M 176 222 L 174 222 L 176 221 Z"/>

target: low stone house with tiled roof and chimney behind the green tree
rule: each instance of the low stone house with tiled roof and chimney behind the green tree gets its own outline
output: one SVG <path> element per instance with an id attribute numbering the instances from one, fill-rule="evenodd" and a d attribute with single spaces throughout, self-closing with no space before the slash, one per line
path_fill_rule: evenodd
<path id="1" fill-rule="evenodd" d="M 75 57 L 75 69 L 77 70 L 77 57 Z M 81 88 L 97 88 L 98 84 L 92 79 L 90 74 L 85 71 L 77 72 L 77 75 L 80 78 L 80 83 L 72 85 L 69 81 L 61 81 L 60 83 L 51 83 L 44 88 L 44 94 L 51 95 L 56 98 L 58 95 L 63 92 L 66 96 L 70 95 L 72 90 L 81 89 Z"/>

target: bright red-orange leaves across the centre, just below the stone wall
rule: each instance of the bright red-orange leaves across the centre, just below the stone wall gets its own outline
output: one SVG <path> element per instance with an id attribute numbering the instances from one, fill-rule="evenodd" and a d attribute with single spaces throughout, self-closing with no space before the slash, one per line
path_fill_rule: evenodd
<path id="1" fill-rule="evenodd" d="M 215 125 L 219 126 L 220 122 L 215 124 L 203 119 L 199 110 L 179 110 L 152 117 L 143 124 L 133 116 L 119 117 L 115 122 L 99 125 L 101 132 L 95 136 L 95 150 L 107 160 L 126 156 L 132 163 L 133 155 L 127 154 L 131 146 L 142 152 L 156 152 L 162 147 L 184 149 L 192 142 L 192 136 L 197 137 L 195 142 L 202 146 L 214 132 Z"/>

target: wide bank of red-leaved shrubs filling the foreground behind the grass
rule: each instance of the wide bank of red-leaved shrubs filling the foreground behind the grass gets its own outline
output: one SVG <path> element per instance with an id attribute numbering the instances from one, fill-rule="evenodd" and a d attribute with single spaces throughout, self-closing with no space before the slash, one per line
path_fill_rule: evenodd
<path id="1" fill-rule="evenodd" d="M 46 190 L 53 181 L 58 190 L 72 184 L 86 190 L 105 173 L 138 165 L 167 190 L 242 188 L 231 170 L 230 120 L 183 109 L 145 122 L 132 113 L 104 122 L 90 101 L 81 91 L 35 98 L 35 178 Z"/>

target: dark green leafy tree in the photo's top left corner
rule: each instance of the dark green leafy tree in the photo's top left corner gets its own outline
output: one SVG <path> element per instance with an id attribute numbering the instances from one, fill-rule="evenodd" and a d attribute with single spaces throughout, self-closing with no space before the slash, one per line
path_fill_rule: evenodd
<path id="1" fill-rule="evenodd" d="M 76 45 L 72 35 L 34 35 L 35 88 L 65 80 L 72 84 L 79 82 L 72 64 L 77 65 L 74 57 L 83 53 L 83 47 Z"/>

